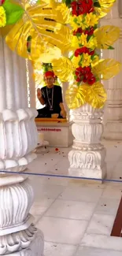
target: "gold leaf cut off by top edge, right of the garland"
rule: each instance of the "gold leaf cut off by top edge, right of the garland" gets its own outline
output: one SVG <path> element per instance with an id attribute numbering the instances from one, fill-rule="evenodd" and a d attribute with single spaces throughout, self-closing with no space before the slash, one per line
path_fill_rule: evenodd
<path id="1" fill-rule="evenodd" d="M 110 9 L 113 7 L 114 2 L 116 0 L 98 0 L 101 7 L 95 7 L 96 13 L 99 18 L 105 17 L 107 13 L 109 13 Z"/>

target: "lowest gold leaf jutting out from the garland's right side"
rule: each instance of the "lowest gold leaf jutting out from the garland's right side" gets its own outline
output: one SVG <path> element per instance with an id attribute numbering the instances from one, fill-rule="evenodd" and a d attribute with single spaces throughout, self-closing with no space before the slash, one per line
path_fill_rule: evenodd
<path id="1" fill-rule="evenodd" d="M 121 63 L 114 59 L 100 60 L 97 65 L 94 65 L 92 72 L 94 76 L 102 80 L 108 80 L 113 76 L 116 76 L 121 69 Z"/>

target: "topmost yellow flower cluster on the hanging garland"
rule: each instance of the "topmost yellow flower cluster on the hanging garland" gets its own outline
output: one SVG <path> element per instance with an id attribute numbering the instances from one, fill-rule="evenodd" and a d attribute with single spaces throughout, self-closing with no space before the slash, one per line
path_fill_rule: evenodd
<path id="1" fill-rule="evenodd" d="M 72 16 L 70 24 L 72 25 L 73 30 L 76 30 L 77 28 L 85 30 L 98 24 L 98 17 L 94 13 L 87 13 L 87 15 L 82 14 L 78 17 Z"/>

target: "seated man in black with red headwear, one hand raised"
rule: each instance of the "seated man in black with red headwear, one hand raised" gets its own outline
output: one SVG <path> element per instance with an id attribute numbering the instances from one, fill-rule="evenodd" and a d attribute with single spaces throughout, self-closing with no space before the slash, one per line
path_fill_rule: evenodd
<path id="1" fill-rule="evenodd" d="M 43 109 L 37 109 L 39 114 L 36 118 L 52 117 L 52 114 L 57 114 L 57 118 L 66 118 L 61 87 L 54 85 L 54 72 L 47 71 L 44 77 L 46 87 L 37 90 L 37 97 L 39 102 L 45 105 L 45 107 Z"/>

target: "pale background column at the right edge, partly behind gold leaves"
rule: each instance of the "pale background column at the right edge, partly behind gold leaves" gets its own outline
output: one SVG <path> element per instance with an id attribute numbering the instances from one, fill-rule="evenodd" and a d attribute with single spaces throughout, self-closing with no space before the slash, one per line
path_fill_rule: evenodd
<path id="1" fill-rule="evenodd" d="M 116 2 L 101 25 L 111 24 L 120 27 L 120 39 L 115 43 L 114 50 L 104 50 L 102 58 L 114 58 L 122 62 L 122 20 L 119 18 L 118 3 Z M 107 103 L 104 115 L 104 138 L 122 139 L 122 72 L 111 80 L 103 81 L 107 91 Z"/>

